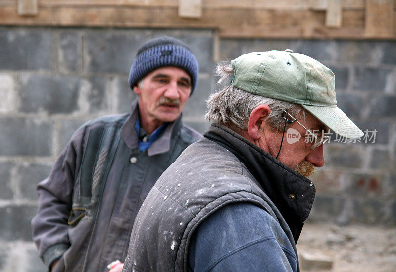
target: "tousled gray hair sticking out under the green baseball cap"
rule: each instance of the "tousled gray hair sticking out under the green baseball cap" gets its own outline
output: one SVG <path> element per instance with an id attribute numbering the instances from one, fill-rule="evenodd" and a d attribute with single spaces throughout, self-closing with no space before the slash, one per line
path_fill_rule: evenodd
<path id="1" fill-rule="evenodd" d="M 220 77 L 217 80 L 217 84 L 220 85 L 234 74 L 234 70 L 230 62 L 222 62 L 216 66 L 215 73 Z M 282 109 L 295 118 L 305 119 L 305 110 L 298 104 L 254 95 L 233 85 L 211 93 L 206 104 L 209 110 L 205 118 L 208 121 L 225 125 L 235 131 L 247 130 L 250 113 L 262 104 L 268 105 L 271 109 L 267 120 L 278 132 L 282 132 L 285 125 Z"/>

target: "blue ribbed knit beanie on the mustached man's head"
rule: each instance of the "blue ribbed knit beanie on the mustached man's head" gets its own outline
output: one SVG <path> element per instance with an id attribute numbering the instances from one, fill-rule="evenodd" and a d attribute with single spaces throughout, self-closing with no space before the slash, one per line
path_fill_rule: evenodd
<path id="1" fill-rule="evenodd" d="M 165 66 L 184 69 L 191 77 L 191 93 L 197 84 L 198 61 L 182 41 L 168 36 L 149 40 L 138 50 L 129 72 L 129 86 L 133 86 L 149 72 Z"/>

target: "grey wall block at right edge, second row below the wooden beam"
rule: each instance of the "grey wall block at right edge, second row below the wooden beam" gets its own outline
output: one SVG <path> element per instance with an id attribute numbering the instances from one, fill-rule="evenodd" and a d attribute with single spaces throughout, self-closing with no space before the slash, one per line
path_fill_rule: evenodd
<path id="1" fill-rule="evenodd" d="M 393 80 L 393 69 L 354 67 L 352 89 L 359 91 L 385 91 L 387 82 Z"/>

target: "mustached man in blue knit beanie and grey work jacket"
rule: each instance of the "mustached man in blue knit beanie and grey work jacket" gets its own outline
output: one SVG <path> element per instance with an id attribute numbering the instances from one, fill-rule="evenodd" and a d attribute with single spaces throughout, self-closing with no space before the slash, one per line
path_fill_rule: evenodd
<path id="1" fill-rule="evenodd" d="M 149 190 L 201 136 L 181 121 L 197 79 L 198 62 L 186 44 L 152 39 L 130 70 L 138 95 L 132 111 L 89 121 L 74 133 L 37 186 L 33 240 L 49 271 L 105 272 L 125 259 Z"/>

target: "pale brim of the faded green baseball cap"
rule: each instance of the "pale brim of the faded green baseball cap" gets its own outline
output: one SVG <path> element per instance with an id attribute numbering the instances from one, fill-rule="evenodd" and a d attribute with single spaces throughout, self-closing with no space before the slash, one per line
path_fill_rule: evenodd
<path id="1" fill-rule="evenodd" d="M 338 107 L 301 106 L 308 110 L 324 125 L 341 136 L 348 139 L 359 139 L 364 135 L 363 131 L 361 131 L 352 120 L 348 118 L 347 114 Z"/>

